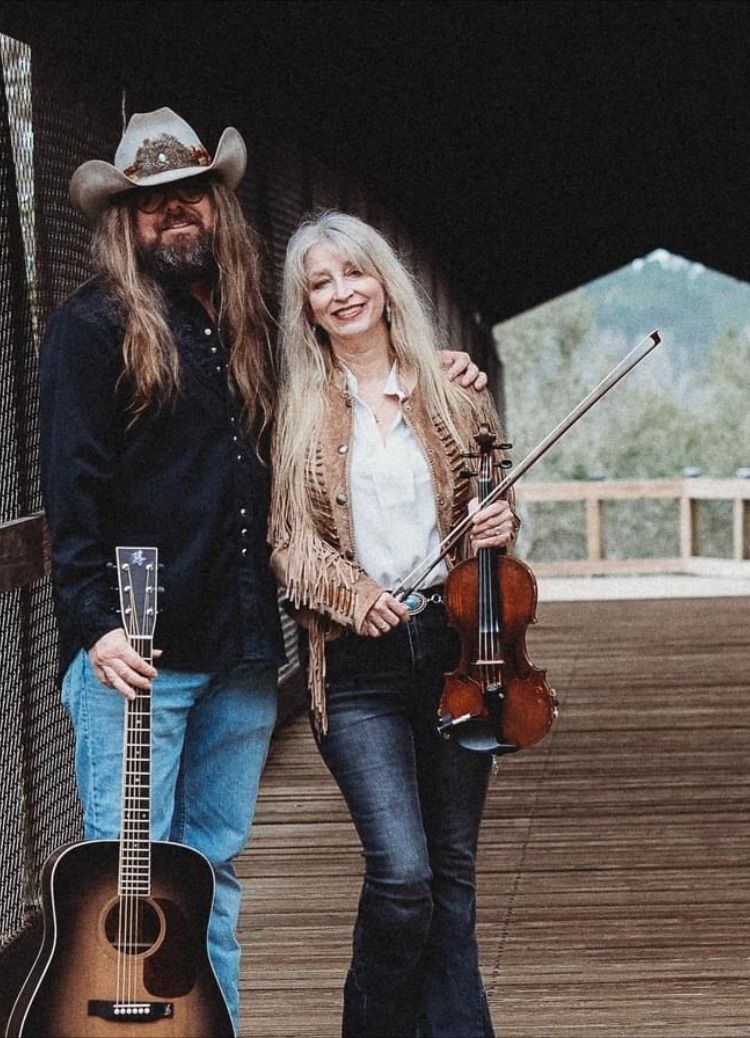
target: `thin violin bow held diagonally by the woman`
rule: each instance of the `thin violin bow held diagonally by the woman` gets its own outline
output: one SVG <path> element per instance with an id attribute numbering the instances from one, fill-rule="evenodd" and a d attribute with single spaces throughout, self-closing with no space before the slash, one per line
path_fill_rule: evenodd
<path id="1" fill-rule="evenodd" d="M 655 330 L 648 335 L 645 335 L 637 346 L 634 346 L 630 353 L 626 354 L 626 356 L 622 357 L 617 364 L 615 364 L 609 375 L 602 379 L 599 385 L 594 386 L 594 388 L 583 398 L 580 404 L 577 404 L 571 413 L 567 414 L 562 421 L 558 422 L 552 432 L 548 433 L 544 440 L 541 440 L 540 443 L 537 443 L 533 450 L 531 450 L 522 462 L 519 462 L 519 464 L 513 467 L 511 472 L 509 472 L 503 480 L 500 481 L 500 483 L 493 487 L 477 511 L 481 512 L 488 507 L 488 504 L 492 504 L 493 501 L 496 501 L 499 497 L 502 497 L 503 494 L 507 493 L 517 480 L 520 480 L 522 475 L 528 472 L 532 465 L 535 465 L 539 458 L 546 455 L 550 447 L 557 443 L 557 441 L 565 435 L 572 426 L 575 426 L 578 419 L 581 418 L 586 411 L 592 408 L 593 405 L 605 395 L 605 393 L 609 392 L 612 386 L 616 385 L 620 379 L 624 378 L 624 376 L 632 371 L 636 364 L 640 363 L 644 357 L 648 356 L 651 350 L 655 350 L 659 346 L 661 340 L 661 335 Z M 435 550 L 425 558 L 423 558 L 421 563 L 418 563 L 411 573 L 408 573 L 407 576 L 396 584 L 391 592 L 391 595 L 402 601 L 405 598 L 408 598 L 412 592 L 416 591 L 424 579 L 433 572 L 438 563 L 448 554 L 453 545 L 456 544 L 466 534 L 476 514 L 476 512 L 473 512 L 471 515 L 462 519 L 461 522 L 457 523 L 457 525 L 455 525 L 448 534 L 448 536 L 441 541 L 438 547 L 435 548 Z"/>

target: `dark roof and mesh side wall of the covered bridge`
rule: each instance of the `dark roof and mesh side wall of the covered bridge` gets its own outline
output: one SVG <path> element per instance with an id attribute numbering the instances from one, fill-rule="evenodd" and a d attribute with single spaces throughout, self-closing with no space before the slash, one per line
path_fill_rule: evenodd
<path id="1" fill-rule="evenodd" d="M 500 392 L 495 323 L 655 248 L 750 280 L 749 21 L 744 4 L 674 0 L 3 5 L 0 32 L 31 53 L 36 268 L 31 284 L 3 100 L 0 1020 L 34 947 L 40 863 L 79 832 L 34 352 L 88 272 L 72 171 L 111 159 L 123 113 L 168 105 L 210 149 L 237 126 L 272 274 L 305 212 L 358 213 L 411 257 L 446 340 Z"/>

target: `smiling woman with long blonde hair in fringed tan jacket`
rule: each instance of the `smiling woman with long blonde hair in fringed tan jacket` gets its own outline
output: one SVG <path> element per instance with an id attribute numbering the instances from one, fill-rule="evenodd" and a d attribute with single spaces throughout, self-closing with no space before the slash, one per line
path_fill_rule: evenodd
<path id="1" fill-rule="evenodd" d="M 466 515 L 461 455 L 497 421 L 487 394 L 446 380 L 415 282 L 355 217 L 324 213 L 291 238 L 281 347 L 272 566 L 309 631 L 315 737 L 366 859 L 342 1033 L 484 1038 L 475 853 L 491 758 L 436 731 L 455 559 L 417 614 L 387 589 Z M 516 528 L 497 502 L 471 546 Z"/>

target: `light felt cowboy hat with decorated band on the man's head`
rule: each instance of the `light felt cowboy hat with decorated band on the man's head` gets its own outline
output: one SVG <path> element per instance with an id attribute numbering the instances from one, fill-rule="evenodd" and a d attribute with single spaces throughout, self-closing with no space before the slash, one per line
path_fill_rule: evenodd
<path id="1" fill-rule="evenodd" d="M 91 159 L 71 177 L 71 201 L 94 219 L 115 195 L 158 187 L 199 173 L 214 173 L 235 188 L 247 162 L 245 141 L 233 127 L 221 135 L 212 160 L 198 135 L 171 108 L 137 112 L 122 134 L 114 165 Z"/>

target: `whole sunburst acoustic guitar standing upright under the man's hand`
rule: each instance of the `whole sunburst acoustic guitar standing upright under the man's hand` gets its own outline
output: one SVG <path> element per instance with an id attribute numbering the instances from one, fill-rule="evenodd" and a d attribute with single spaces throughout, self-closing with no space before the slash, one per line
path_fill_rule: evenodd
<path id="1" fill-rule="evenodd" d="M 123 627 L 150 662 L 158 552 L 116 553 Z M 139 689 L 126 706 L 119 840 L 75 843 L 45 864 L 41 949 L 9 1038 L 234 1034 L 206 950 L 211 865 L 190 847 L 150 839 L 150 689 Z"/>

